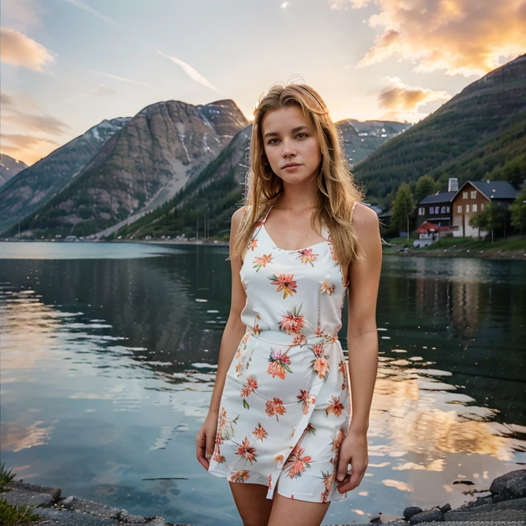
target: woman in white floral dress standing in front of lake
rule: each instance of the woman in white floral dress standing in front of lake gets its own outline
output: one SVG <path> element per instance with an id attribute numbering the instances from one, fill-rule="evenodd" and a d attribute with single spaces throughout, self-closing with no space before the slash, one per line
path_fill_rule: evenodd
<path id="1" fill-rule="evenodd" d="M 317 526 L 364 476 L 381 242 L 359 200 L 321 97 L 271 88 L 255 110 L 246 203 L 232 216 L 231 308 L 196 439 L 245 526 Z M 338 341 L 346 295 L 349 371 Z"/>

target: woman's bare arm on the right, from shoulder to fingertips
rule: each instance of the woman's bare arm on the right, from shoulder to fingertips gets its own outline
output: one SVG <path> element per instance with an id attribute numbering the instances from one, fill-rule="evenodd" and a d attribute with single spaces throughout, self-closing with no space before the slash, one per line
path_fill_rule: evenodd
<path id="1" fill-rule="evenodd" d="M 368 464 L 367 429 L 378 368 L 376 301 L 381 268 L 381 239 L 378 216 L 365 205 L 356 205 L 353 227 L 360 242 L 362 259 L 349 266 L 349 382 L 351 424 L 340 447 L 338 491 L 356 488 Z M 347 473 L 351 464 L 351 474 Z"/>

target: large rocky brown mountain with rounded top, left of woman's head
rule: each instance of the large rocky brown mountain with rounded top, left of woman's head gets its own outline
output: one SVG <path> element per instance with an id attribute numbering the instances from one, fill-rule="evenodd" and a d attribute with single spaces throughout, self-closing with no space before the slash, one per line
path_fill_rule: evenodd
<path id="1" fill-rule="evenodd" d="M 234 101 L 149 105 L 26 217 L 22 228 L 52 236 L 87 236 L 119 221 L 133 221 L 197 177 L 247 124 Z"/>

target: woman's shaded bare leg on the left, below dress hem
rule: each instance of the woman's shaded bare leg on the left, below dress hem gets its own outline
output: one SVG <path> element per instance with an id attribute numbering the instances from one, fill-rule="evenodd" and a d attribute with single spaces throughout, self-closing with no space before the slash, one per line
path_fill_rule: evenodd
<path id="1" fill-rule="evenodd" d="M 243 526 L 266 526 L 273 503 L 272 499 L 266 498 L 268 488 L 263 484 L 229 484 Z"/>

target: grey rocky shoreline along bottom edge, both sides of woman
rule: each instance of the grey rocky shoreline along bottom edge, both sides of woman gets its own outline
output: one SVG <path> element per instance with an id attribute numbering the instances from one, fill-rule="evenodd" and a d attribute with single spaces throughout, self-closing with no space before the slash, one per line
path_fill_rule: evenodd
<path id="1" fill-rule="evenodd" d="M 181 523 L 168 523 L 160 516 L 144 517 L 130 514 L 127 510 L 79 499 L 73 495 L 61 497 L 60 488 L 25 484 L 23 480 L 11 481 L 0 492 L 0 499 L 5 499 L 10 505 L 22 505 L 33 508 L 32 512 L 42 520 L 32 523 L 34 526 L 45 526 L 50 521 L 59 524 L 75 524 L 83 526 L 133 526 L 148 524 L 149 526 L 191 526 Z M 510 471 L 494 479 L 488 490 L 481 490 L 484 496 L 475 501 L 466 501 L 455 510 L 451 505 L 437 505 L 429 510 L 418 506 L 408 506 L 400 516 L 384 524 L 392 526 L 408 526 L 420 524 L 427 526 L 434 523 L 470 523 L 485 521 L 485 525 L 526 526 L 526 469 Z M 471 494 L 465 491 L 464 494 Z M 369 523 L 353 523 L 354 526 L 366 526 L 371 523 L 381 523 L 381 514 L 371 518 Z M 354 519 L 354 517 L 353 517 Z M 498 522 L 497 522 L 498 521 Z M 505 521 L 505 522 L 502 522 Z M 197 526 L 197 525 L 196 525 Z M 345 526 L 351 526 L 345 525 Z"/>

